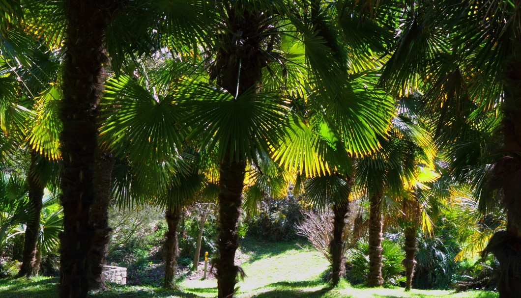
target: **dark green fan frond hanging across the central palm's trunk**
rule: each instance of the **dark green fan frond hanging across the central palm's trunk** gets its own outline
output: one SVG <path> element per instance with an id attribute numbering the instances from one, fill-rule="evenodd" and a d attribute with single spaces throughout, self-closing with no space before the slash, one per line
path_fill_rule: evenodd
<path id="1" fill-rule="evenodd" d="M 287 102 L 274 94 L 246 93 L 234 98 L 224 89 L 183 79 L 175 96 L 187 109 L 191 138 L 201 144 L 217 144 L 218 158 L 253 160 L 257 150 L 269 151 L 282 135 Z"/>

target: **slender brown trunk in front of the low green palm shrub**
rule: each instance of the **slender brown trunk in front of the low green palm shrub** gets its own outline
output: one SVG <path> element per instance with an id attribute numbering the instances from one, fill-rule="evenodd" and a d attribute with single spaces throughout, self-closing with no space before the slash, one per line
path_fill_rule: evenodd
<path id="1" fill-rule="evenodd" d="M 369 275 L 367 285 L 379 287 L 382 279 L 382 199 L 377 193 L 369 197 Z"/>

